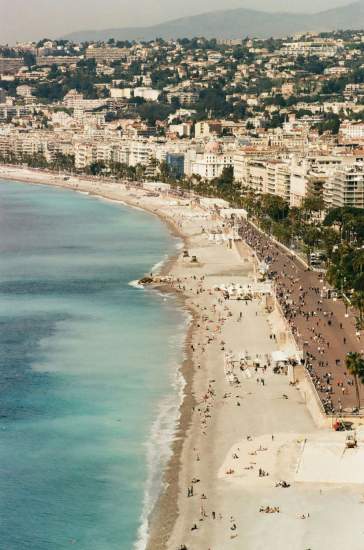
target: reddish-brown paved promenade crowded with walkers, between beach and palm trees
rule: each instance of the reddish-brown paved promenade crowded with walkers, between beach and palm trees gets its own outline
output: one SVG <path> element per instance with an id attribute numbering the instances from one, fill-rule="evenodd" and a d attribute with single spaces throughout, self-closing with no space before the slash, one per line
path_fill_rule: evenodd
<path id="1" fill-rule="evenodd" d="M 362 353 L 361 334 L 356 331 L 355 314 L 342 300 L 326 297 L 327 283 L 293 255 L 274 243 L 250 223 L 240 234 L 254 249 L 258 259 L 269 265 L 276 295 L 315 384 L 325 411 L 329 414 L 355 413 L 357 397 L 353 377 L 345 368 L 349 352 Z M 364 403 L 364 388 L 360 384 Z"/>

